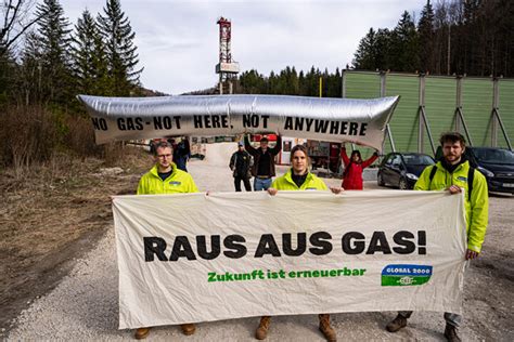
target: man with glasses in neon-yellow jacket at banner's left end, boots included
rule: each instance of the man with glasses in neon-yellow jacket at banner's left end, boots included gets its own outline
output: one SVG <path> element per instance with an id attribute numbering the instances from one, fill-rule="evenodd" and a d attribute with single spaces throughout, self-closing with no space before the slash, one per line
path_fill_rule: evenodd
<path id="1" fill-rule="evenodd" d="M 139 181 L 138 195 L 162 195 L 197 193 L 198 188 L 194 184 L 193 177 L 182 170 L 179 170 L 174 162 L 174 148 L 168 142 L 160 142 L 154 148 L 154 167 L 146 172 Z M 185 336 L 193 334 L 196 330 L 194 324 L 183 324 L 180 326 Z M 145 339 L 150 333 L 150 328 L 139 328 L 134 332 L 137 340 Z"/>

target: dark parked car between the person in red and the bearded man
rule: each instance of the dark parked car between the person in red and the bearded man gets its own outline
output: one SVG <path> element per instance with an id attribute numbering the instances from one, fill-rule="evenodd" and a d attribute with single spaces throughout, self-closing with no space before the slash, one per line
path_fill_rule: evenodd
<path id="1" fill-rule="evenodd" d="M 389 184 L 400 189 L 410 189 L 414 187 L 423 170 L 434 163 L 434 158 L 428 155 L 394 152 L 382 160 L 376 181 L 380 186 Z"/>

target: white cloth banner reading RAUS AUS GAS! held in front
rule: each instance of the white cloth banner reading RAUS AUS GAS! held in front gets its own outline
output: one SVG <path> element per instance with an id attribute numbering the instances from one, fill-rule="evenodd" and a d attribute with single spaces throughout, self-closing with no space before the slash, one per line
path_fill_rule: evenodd
<path id="1" fill-rule="evenodd" d="M 119 328 L 261 315 L 460 313 L 463 196 L 117 196 Z"/>

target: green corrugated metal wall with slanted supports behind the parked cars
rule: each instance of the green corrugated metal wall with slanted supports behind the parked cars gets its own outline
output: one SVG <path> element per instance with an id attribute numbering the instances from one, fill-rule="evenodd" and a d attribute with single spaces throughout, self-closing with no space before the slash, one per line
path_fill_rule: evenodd
<path id="1" fill-rule="evenodd" d="M 381 94 L 378 73 L 345 71 L 345 93 L 348 98 L 372 98 Z M 424 152 L 432 155 L 427 131 L 420 141 L 420 77 L 407 74 L 386 74 L 385 95 L 400 95 L 401 100 L 390 121 L 391 134 L 399 152 Z M 458 80 L 455 77 L 424 77 L 425 115 L 435 147 L 439 145 L 442 132 L 455 129 L 455 108 L 458 105 Z M 499 80 L 499 113 L 509 137 L 514 139 L 514 80 Z M 462 78 L 461 105 L 464 121 L 474 146 L 492 146 L 493 81 L 490 78 Z M 460 131 L 464 133 L 461 126 Z M 497 142 L 506 147 L 506 141 L 498 127 Z M 512 143 L 512 141 L 511 141 Z M 391 150 L 388 141 L 384 153 Z M 371 152 L 365 149 L 365 156 Z"/>

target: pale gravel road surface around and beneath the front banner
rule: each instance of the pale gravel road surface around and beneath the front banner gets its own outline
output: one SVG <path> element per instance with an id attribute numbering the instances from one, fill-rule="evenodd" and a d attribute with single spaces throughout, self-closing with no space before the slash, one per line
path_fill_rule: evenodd
<path id="1" fill-rule="evenodd" d="M 232 190 L 233 181 L 226 166 L 192 161 L 190 173 L 201 190 Z M 282 173 L 285 168 L 279 168 Z M 338 185 L 338 180 L 325 180 Z M 376 182 L 365 182 L 376 188 Z M 491 197 L 490 227 L 483 256 L 466 274 L 463 341 L 514 341 L 514 199 Z M 118 286 L 114 227 L 85 259 L 47 295 L 35 299 L 15 320 L 8 340 L 130 340 L 132 331 L 118 330 Z M 396 334 L 384 327 L 395 313 L 349 313 L 332 316 L 339 340 L 425 340 L 444 341 L 441 313 L 416 313 L 408 328 Z M 323 341 L 317 316 L 284 316 L 272 319 L 269 341 Z M 174 326 L 152 330 L 149 340 L 252 341 L 258 318 L 200 324 L 194 336 L 184 337 Z"/>

